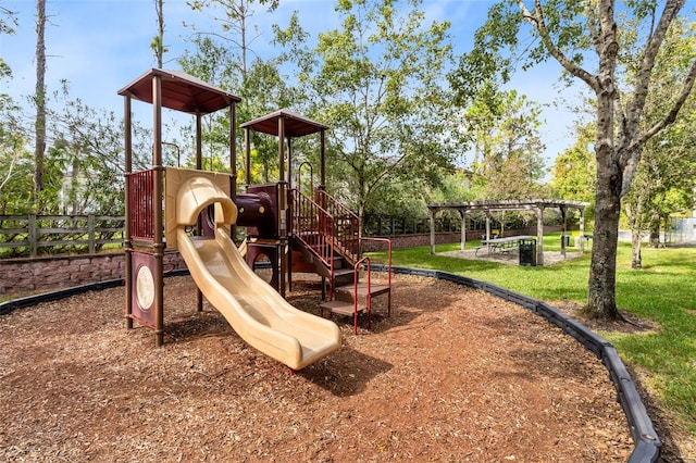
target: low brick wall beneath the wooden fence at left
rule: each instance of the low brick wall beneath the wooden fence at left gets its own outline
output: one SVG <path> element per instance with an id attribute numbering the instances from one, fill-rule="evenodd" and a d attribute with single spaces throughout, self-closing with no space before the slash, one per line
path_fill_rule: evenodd
<path id="1" fill-rule="evenodd" d="M 186 268 L 178 252 L 164 253 L 164 272 Z M 82 254 L 0 261 L 0 296 L 22 296 L 119 279 L 125 276 L 125 254 Z"/>

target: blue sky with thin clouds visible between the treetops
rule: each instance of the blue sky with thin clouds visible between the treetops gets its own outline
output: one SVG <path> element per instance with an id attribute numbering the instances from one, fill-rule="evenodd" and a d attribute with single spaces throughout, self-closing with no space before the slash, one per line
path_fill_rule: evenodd
<path id="1" fill-rule="evenodd" d="M 14 78 L 4 89 L 15 100 L 34 92 L 35 86 L 35 1 L 0 0 L 2 7 L 18 12 L 20 25 L 14 36 L 0 36 L 0 55 L 12 67 Z M 333 0 L 281 0 L 281 8 L 272 14 L 261 5 L 253 5 L 251 20 L 258 26 L 260 37 L 252 50 L 261 57 L 275 54 L 270 48 L 271 24 L 284 27 L 293 11 L 299 12 L 300 25 L 313 37 L 318 32 L 339 27 Z M 447 20 L 458 53 L 468 51 L 477 26 L 485 21 L 494 0 L 425 0 L 422 9 L 430 20 Z M 123 111 L 123 99 L 117 90 L 154 67 L 157 62 L 149 48 L 157 34 L 153 0 L 48 0 L 50 24 L 46 32 L 48 54 L 47 86 L 49 92 L 60 88 L 60 82 L 69 82 L 72 98 L 80 98 L 92 108 Z M 170 49 L 165 68 L 177 68 L 175 59 L 188 46 L 186 38 L 191 30 L 183 22 L 194 23 L 200 30 L 211 20 L 206 13 L 195 13 L 185 0 L 164 0 L 164 41 Z M 560 66 L 549 63 L 544 67 L 520 74 L 511 84 L 532 100 L 548 104 L 543 117 L 546 124 L 542 137 L 547 146 L 544 157 L 550 166 L 554 158 L 572 145 L 571 124 L 575 114 L 551 103 L 558 96 L 554 88 Z M 563 90 L 573 99 L 573 90 Z M 260 114 L 261 115 L 261 114 Z"/>

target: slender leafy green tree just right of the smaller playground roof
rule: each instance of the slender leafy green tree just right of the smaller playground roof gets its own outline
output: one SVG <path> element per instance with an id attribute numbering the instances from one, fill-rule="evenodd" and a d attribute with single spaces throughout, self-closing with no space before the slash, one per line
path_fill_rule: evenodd
<path id="1" fill-rule="evenodd" d="M 409 1 L 410 11 L 396 3 L 339 1 L 343 28 L 319 35 L 313 70 L 298 67 L 312 112 L 332 128 L 327 164 L 339 173 L 336 195 L 360 217 L 381 186 L 398 176 L 435 178 L 457 153 L 439 82 L 451 53 L 449 23 L 425 25 L 420 1 Z"/>

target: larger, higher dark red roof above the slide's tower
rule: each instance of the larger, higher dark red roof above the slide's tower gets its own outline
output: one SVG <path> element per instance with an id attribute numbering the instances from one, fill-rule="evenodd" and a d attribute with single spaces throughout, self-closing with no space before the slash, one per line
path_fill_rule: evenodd
<path id="1" fill-rule="evenodd" d="M 152 103 L 152 78 L 162 78 L 162 107 L 191 114 L 209 114 L 241 101 L 229 92 L 178 71 L 151 68 L 119 95 Z"/>

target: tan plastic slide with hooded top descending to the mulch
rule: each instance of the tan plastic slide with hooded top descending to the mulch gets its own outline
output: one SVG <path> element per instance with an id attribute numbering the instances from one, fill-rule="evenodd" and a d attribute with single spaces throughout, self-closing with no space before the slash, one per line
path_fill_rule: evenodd
<path id="1" fill-rule="evenodd" d="M 236 207 L 214 183 L 191 177 L 176 197 L 176 247 L 206 299 L 247 343 L 293 370 L 340 348 L 335 323 L 294 308 L 249 268 L 227 232 L 236 221 Z M 212 203 L 214 239 L 189 237 L 185 226 Z"/>

